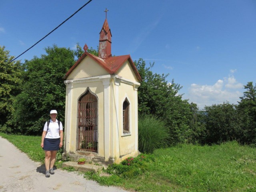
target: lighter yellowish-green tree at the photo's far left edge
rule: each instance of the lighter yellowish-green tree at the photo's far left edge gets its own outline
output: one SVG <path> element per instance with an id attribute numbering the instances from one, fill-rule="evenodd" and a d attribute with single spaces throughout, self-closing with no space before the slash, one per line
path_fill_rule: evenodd
<path id="1" fill-rule="evenodd" d="M 14 56 L 9 55 L 9 51 L 4 50 L 4 46 L 0 46 L 0 130 L 8 116 L 12 113 L 13 97 L 20 93 L 20 85 L 22 84 L 22 74 L 24 68 L 20 61 L 11 62 Z"/>

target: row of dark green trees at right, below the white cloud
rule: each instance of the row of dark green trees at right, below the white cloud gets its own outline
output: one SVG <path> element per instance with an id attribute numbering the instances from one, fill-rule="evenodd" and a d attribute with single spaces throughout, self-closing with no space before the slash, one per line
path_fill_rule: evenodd
<path id="1" fill-rule="evenodd" d="M 238 104 L 213 104 L 195 110 L 190 121 L 192 142 L 217 144 L 236 140 L 242 144 L 256 144 L 256 86 L 248 82 Z M 195 123 L 196 122 L 196 123 Z"/>

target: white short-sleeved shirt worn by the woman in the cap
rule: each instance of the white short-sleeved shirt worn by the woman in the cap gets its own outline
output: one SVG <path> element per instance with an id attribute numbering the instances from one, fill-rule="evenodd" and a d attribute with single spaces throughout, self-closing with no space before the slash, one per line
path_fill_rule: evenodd
<path id="1" fill-rule="evenodd" d="M 48 128 L 48 132 L 46 133 L 45 138 L 48 138 L 48 139 L 60 138 L 60 131 L 59 130 L 63 130 L 62 123 L 60 122 L 60 129 L 59 129 L 58 120 L 53 122 L 50 119 L 50 124 L 49 124 L 49 128 Z M 44 124 L 44 131 L 47 131 L 47 121 Z"/>

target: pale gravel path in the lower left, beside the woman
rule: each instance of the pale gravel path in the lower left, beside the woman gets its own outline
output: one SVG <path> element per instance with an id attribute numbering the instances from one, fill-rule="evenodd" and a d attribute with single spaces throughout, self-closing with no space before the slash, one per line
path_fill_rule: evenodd
<path id="1" fill-rule="evenodd" d="M 0 192 L 126 192 L 120 188 L 100 186 L 76 172 L 54 170 L 45 177 L 44 165 L 34 162 L 13 144 L 0 137 Z"/>

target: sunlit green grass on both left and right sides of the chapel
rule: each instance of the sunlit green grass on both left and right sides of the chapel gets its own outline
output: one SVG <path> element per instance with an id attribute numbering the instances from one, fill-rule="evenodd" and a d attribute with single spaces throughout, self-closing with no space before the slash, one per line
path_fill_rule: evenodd
<path id="1" fill-rule="evenodd" d="M 34 161 L 44 159 L 39 136 L 0 133 Z M 153 192 L 256 192 L 256 148 L 228 142 L 214 146 L 180 144 L 109 166 L 110 177 L 86 173 L 104 185 Z"/>

